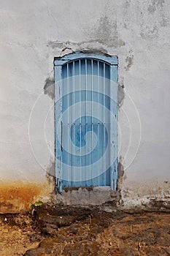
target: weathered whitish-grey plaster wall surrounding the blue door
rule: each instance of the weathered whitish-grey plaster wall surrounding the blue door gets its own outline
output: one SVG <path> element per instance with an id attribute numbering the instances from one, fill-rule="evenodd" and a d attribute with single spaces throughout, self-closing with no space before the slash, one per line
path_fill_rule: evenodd
<path id="1" fill-rule="evenodd" d="M 36 197 L 50 198 L 53 181 L 44 194 L 36 186 L 55 174 L 53 58 L 90 49 L 119 58 L 124 204 L 169 197 L 169 0 L 0 0 L 0 6 L 0 189 L 35 184 Z"/>

